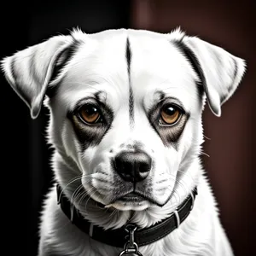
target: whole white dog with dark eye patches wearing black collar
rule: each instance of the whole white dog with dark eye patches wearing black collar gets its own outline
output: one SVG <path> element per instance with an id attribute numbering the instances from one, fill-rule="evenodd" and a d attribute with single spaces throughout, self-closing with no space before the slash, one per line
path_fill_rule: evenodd
<path id="1" fill-rule="evenodd" d="M 206 102 L 221 115 L 244 60 L 180 28 L 73 29 L 1 67 L 32 119 L 49 109 L 38 256 L 234 255 L 201 166 L 201 116 Z"/>

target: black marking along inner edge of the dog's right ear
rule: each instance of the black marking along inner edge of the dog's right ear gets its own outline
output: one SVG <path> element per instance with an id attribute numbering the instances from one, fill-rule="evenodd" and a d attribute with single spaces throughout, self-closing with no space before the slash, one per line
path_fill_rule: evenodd
<path id="1" fill-rule="evenodd" d="M 201 68 L 201 64 L 198 61 L 195 53 L 192 49 L 190 49 L 186 44 L 183 43 L 182 40 L 175 40 L 172 43 L 181 51 L 181 53 L 186 57 L 189 61 L 190 65 L 193 67 L 195 73 L 197 74 L 198 78 L 201 80 L 201 83 L 196 82 L 196 88 L 198 90 L 198 95 L 202 98 L 204 94 L 204 89 L 207 88 L 207 80 Z"/>

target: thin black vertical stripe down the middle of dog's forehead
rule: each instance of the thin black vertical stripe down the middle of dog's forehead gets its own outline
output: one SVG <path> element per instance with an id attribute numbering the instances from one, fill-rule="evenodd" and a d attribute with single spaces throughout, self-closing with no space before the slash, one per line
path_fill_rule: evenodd
<path id="1" fill-rule="evenodd" d="M 131 47 L 129 38 L 126 40 L 126 61 L 127 61 L 127 70 L 128 70 L 128 79 L 129 79 L 129 117 L 130 125 L 134 124 L 134 98 L 133 91 L 131 88 Z"/>

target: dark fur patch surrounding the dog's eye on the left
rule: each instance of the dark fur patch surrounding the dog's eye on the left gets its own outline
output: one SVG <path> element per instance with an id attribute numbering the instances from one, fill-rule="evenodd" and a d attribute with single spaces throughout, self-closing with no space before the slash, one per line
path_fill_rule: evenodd
<path id="1" fill-rule="evenodd" d="M 97 92 L 98 93 L 98 92 Z M 96 94 L 97 94 L 96 93 Z M 96 98 L 96 96 L 95 96 Z M 67 113 L 67 118 L 71 120 L 73 125 L 73 130 L 78 138 L 80 149 L 82 152 L 89 147 L 95 147 L 99 143 L 102 142 L 102 138 L 109 131 L 112 121 L 113 121 L 113 110 L 109 108 L 102 102 L 97 102 L 92 98 L 83 100 L 84 104 L 93 104 L 96 108 L 99 109 L 102 117 L 102 122 L 94 125 L 86 125 L 79 118 L 79 108 L 81 108 L 81 104 L 77 105 L 77 107 L 72 111 Z"/>

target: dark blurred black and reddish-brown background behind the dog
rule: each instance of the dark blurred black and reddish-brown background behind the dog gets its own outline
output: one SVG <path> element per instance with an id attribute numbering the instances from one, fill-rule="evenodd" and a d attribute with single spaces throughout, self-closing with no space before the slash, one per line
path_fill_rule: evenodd
<path id="1" fill-rule="evenodd" d="M 84 32 L 141 28 L 171 32 L 177 26 L 247 61 L 241 86 L 221 118 L 205 109 L 202 157 L 221 220 L 236 255 L 255 255 L 256 2 L 243 1 L 5 1 L 0 58 L 79 26 Z M 0 76 L 2 95 L 2 250 L 37 255 L 38 218 L 49 189 L 46 111 L 32 120 L 26 105 Z M 253 110 L 254 109 L 254 110 Z M 253 132 L 254 131 L 254 132 Z"/>

